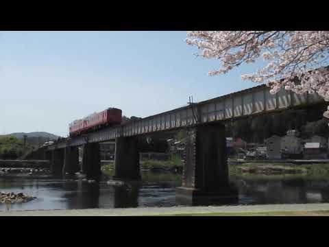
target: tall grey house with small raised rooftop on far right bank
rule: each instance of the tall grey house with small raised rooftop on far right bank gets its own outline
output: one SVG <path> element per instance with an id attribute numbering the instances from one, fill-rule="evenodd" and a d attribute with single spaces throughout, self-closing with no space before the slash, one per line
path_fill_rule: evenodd
<path id="1" fill-rule="evenodd" d="M 287 158 L 301 158 L 303 152 L 302 139 L 297 130 L 288 130 L 281 138 L 281 152 Z"/>

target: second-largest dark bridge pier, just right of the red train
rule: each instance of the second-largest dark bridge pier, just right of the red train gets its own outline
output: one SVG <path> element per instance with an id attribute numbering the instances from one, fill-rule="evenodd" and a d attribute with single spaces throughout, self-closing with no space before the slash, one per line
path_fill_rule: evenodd
<path id="1" fill-rule="evenodd" d="M 136 137 L 115 139 L 114 179 L 141 180 Z"/>

